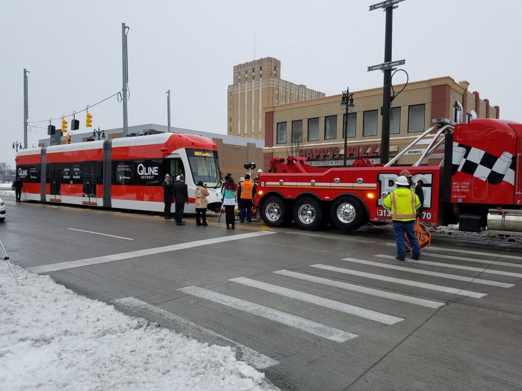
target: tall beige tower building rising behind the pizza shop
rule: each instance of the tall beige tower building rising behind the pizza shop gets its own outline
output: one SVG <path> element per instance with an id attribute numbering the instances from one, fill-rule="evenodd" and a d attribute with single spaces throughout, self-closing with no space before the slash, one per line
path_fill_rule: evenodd
<path id="1" fill-rule="evenodd" d="M 324 97 L 323 92 L 281 79 L 281 62 L 265 57 L 234 65 L 228 86 L 227 134 L 265 139 L 263 108 Z"/>

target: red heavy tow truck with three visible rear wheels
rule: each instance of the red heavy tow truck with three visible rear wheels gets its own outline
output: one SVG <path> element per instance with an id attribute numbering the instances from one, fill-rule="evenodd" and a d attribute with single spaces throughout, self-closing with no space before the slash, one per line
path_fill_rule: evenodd
<path id="1" fill-rule="evenodd" d="M 487 226 L 490 232 L 520 235 L 522 124 L 500 119 L 433 123 L 384 166 L 364 158 L 342 168 L 311 166 L 305 157 L 272 158 L 271 173 L 259 177 L 254 198 L 258 216 L 268 226 L 294 221 L 308 230 L 327 224 L 352 230 L 366 223 L 388 223 L 389 212 L 382 203 L 407 168 L 424 192 L 425 226 L 459 223 L 460 229 L 479 231 Z M 394 165 L 423 139 L 430 141 L 416 163 Z M 433 159 L 437 154 L 438 160 Z M 423 165 L 429 156 L 438 165 Z"/>

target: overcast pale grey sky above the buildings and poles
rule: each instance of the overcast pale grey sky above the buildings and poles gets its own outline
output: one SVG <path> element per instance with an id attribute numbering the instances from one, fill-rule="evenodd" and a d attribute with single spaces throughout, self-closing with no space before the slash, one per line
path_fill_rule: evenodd
<path id="1" fill-rule="evenodd" d="M 122 22 L 128 33 L 128 125 L 227 131 L 233 66 L 281 60 L 281 78 L 326 95 L 382 87 L 385 13 L 375 0 L 79 2 L 0 0 L 0 162 L 14 165 L 23 142 L 23 68 L 29 121 L 79 112 L 122 89 Z M 450 76 L 522 121 L 521 0 L 406 0 L 393 14 L 393 59 L 410 81 Z M 255 57 L 254 57 L 255 36 Z M 405 81 L 399 72 L 393 83 Z M 123 126 L 116 97 L 89 111 L 93 126 Z M 86 131 L 85 113 L 77 116 Z M 53 124 L 60 128 L 60 121 Z M 47 137 L 33 123 L 28 145 Z M 69 123 L 70 125 L 70 123 Z"/>

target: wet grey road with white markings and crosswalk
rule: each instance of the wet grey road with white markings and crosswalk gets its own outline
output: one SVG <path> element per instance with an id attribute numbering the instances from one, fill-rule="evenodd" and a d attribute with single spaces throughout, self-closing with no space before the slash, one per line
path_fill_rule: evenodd
<path id="1" fill-rule="evenodd" d="M 284 390 L 522 389 L 522 246 L 388 230 L 176 226 L 6 197 L 10 261 L 238 358 Z M 104 234 L 104 235 L 99 235 Z M 387 258 L 389 257 L 389 258 Z"/>

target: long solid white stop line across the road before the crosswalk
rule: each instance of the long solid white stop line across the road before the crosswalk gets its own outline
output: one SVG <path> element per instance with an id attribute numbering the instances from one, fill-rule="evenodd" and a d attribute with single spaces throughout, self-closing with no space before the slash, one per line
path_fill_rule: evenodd
<path id="1" fill-rule="evenodd" d="M 259 232 L 252 232 L 252 233 L 248 233 L 248 234 L 240 234 L 240 235 L 224 236 L 224 237 L 212 238 L 212 239 L 196 240 L 193 242 L 179 243 L 179 245 L 155 247 L 155 248 L 151 248 L 151 249 L 124 252 L 124 253 L 120 253 L 120 254 L 97 256 L 96 258 L 80 259 L 77 261 L 68 261 L 68 262 L 60 262 L 60 263 L 51 263 L 49 265 L 33 266 L 33 267 L 28 267 L 27 270 L 29 270 L 30 272 L 33 272 L 33 273 L 55 272 L 57 270 L 65 270 L 65 269 L 70 269 L 73 267 L 96 265 L 98 263 L 105 263 L 105 262 L 112 262 L 112 261 L 121 261 L 124 259 L 136 258 L 137 256 L 160 254 L 162 252 L 169 252 L 169 251 L 176 251 L 176 250 L 185 250 L 185 249 L 189 249 L 189 248 L 193 248 L 193 247 L 213 245 L 214 243 L 222 243 L 222 242 L 227 242 L 227 241 L 231 241 L 231 240 L 254 238 L 257 236 L 270 235 L 270 234 L 274 234 L 274 232 L 259 231 Z"/>

